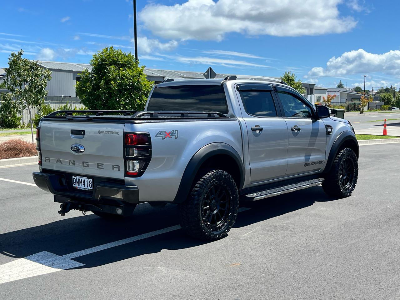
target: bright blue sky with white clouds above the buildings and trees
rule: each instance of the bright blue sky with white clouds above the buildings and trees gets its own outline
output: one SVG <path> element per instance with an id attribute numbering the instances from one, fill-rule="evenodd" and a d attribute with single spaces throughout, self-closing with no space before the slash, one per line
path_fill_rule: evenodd
<path id="1" fill-rule="evenodd" d="M 22 48 L 36 60 L 88 63 L 133 50 L 132 1 L 4 1 L 0 68 Z M 333 87 L 400 87 L 397 0 L 138 0 L 148 68 L 280 76 Z"/>

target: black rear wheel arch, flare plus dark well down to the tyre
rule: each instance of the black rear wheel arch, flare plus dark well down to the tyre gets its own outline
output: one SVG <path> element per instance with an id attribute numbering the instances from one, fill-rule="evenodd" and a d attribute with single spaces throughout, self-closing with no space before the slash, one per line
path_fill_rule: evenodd
<path id="1" fill-rule="evenodd" d="M 194 180 L 211 166 L 213 170 L 221 169 L 228 172 L 236 182 L 238 190 L 242 188 L 244 184 L 242 158 L 232 146 L 225 143 L 212 143 L 203 146 L 188 162 L 173 203 L 184 202 L 192 189 Z"/>

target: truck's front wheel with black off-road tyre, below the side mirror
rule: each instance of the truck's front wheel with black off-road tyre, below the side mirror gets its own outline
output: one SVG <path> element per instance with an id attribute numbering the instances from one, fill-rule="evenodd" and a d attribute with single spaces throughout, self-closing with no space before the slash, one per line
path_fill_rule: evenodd
<path id="1" fill-rule="evenodd" d="M 330 170 L 322 182 L 324 192 L 335 198 L 351 196 L 358 178 L 357 156 L 350 148 L 344 148 L 336 155 Z"/>

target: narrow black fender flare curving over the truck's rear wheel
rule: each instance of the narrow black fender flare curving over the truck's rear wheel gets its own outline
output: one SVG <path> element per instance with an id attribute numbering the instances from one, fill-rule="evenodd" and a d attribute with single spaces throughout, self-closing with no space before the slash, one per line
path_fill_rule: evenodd
<path id="1" fill-rule="evenodd" d="M 178 192 L 172 203 L 182 203 L 186 200 L 190 193 L 190 188 L 192 187 L 194 177 L 196 176 L 198 170 L 202 164 L 210 157 L 218 154 L 226 154 L 233 158 L 239 166 L 240 172 L 240 185 L 238 190 L 240 190 L 244 184 L 244 166 L 242 158 L 238 152 L 230 145 L 225 143 L 212 143 L 203 146 L 198 150 L 188 162 L 185 171 L 183 172 L 182 179 L 180 180 Z"/>

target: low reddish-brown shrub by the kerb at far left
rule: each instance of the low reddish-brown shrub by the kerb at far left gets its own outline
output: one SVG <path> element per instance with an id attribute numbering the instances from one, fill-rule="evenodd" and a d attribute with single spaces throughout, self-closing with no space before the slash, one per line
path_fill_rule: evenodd
<path id="1" fill-rule="evenodd" d="M 0 144 L 0 159 L 38 155 L 36 145 L 20 139 L 11 139 Z"/>

